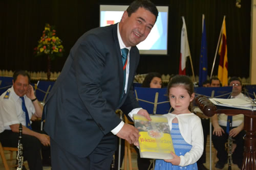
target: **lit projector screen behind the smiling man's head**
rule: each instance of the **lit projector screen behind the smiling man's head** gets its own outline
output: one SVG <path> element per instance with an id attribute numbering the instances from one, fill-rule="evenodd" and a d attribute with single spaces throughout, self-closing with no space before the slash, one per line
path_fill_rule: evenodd
<path id="1" fill-rule="evenodd" d="M 119 22 L 127 8 L 124 5 L 100 5 L 100 27 Z M 159 14 L 153 29 L 137 45 L 140 54 L 167 55 L 168 6 L 157 6 L 157 9 Z"/>

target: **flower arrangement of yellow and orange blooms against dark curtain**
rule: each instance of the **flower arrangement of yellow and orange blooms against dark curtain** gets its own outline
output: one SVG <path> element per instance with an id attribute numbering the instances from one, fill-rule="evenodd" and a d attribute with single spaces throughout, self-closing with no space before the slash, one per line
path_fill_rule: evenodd
<path id="1" fill-rule="evenodd" d="M 51 76 L 51 60 L 63 55 L 63 45 L 61 40 L 56 36 L 56 30 L 49 23 L 46 23 L 45 30 L 34 48 L 35 56 L 47 56 L 47 78 Z"/>

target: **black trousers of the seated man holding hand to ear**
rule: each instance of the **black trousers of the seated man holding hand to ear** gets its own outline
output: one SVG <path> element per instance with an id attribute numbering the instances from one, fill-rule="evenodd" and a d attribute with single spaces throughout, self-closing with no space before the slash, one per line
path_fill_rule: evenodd
<path id="1" fill-rule="evenodd" d="M 13 147 L 18 146 L 18 133 L 14 133 L 11 130 L 5 130 L 0 133 L 0 140 L 3 147 Z M 30 170 L 40 170 L 42 169 L 41 160 L 41 142 L 34 136 L 25 135 L 22 136 L 23 144 L 23 156 L 24 160 L 28 161 Z"/>

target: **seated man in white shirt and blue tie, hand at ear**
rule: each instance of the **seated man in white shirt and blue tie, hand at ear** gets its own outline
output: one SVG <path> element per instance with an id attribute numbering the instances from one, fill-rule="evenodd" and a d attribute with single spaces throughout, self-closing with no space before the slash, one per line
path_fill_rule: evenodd
<path id="1" fill-rule="evenodd" d="M 24 70 L 13 74 L 13 85 L 0 96 L 0 141 L 3 147 L 18 145 L 19 124 L 23 125 L 23 156 L 30 170 L 42 169 L 41 144 L 50 145 L 50 137 L 31 128 L 31 117 L 41 118 L 42 105 L 35 97 L 30 76 Z"/>

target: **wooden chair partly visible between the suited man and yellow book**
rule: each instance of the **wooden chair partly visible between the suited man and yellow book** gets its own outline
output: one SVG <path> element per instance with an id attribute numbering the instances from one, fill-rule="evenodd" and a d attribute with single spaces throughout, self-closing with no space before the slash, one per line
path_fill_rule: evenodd
<path id="1" fill-rule="evenodd" d="M 124 122 L 126 124 L 134 125 L 134 123 L 131 122 L 125 115 L 124 115 Z M 131 156 L 132 152 L 136 153 L 135 149 L 133 147 L 131 147 L 131 144 L 125 140 L 125 142 L 124 142 L 124 170 L 127 169 L 127 156 L 128 156 L 128 161 L 129 161 L 129 170 L 138 169 L 137 167 L 132 166 L 132 156 Z"/>

